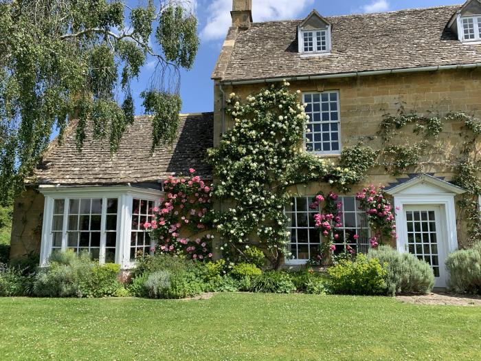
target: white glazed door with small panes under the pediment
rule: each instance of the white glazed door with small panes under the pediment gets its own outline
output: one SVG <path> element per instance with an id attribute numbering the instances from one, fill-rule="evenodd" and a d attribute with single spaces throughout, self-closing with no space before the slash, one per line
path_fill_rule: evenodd
<path id="1" fill-rule="evenodd" d="M 446 287 L 447 239 L 440 222 L 440 207 L 404 206 L 403 212 L 403 234 L 407 237 L 399 240 L 404 243 L 401 246 L 431 265 L 434 287 Z"/>

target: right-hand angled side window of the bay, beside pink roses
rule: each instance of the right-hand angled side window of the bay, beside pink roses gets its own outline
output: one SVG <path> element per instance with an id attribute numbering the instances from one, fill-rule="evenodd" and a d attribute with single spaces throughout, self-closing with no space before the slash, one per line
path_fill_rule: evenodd
<path id="1" fill-rule="evenodd" d="M 130 260 L 135 261 L 139 256 L 153 254 L 153 240 L 145 230 L 144 223 L 153 219 L 155 202 L 147 199 L 133 199 L 132 204 L 132 230 Z"/>

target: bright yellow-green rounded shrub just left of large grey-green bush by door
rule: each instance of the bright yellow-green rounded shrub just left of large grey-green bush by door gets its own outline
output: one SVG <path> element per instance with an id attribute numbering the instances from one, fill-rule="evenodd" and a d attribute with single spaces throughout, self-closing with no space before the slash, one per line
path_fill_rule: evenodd
<path id="1" fill-rule="evenodd" d="M 385 268 L 377 259 L 358 254 L 355 261 L 342 260 L 328 270 L 336 294 L 374 295 L 385 293 Z"/>

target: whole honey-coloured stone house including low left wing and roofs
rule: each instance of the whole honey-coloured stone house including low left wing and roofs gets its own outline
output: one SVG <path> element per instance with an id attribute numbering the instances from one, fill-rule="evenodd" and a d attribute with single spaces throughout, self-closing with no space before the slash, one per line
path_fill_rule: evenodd
<path id="1" fill-rule="evenodd" d="M 148 131 L 136 126 L 129 129 L 112 159 L 94 142 L 76 153 L 70 133 L 63 145 L 52 144 L 36 171 L 39 193 L 29 190 L 16 200 L 12 254 L 40 248 L 45 263 L 52 249 L 71 247 L 67 233 L 77 237 L 73 247 L 80 249 L 82 232 L 70 228 L 70 219 L 81 215 L 89 217 L 90 224 L 94 219 L 98 223 L 98 230 L 89 230 L 90 241 L 84 243 L 100 261 L 132 264 L 135 248 L 150 246 L 145 232 L 132 224 L 135 217 L 148 217 L 149 202 L 161 195 L 158 181 L 186 173 L 190 167 L 212 177 L 202 155 L 232 127 L 225 115 L 226 96 L 232 92 L 245 98 L 288 80 L 291 89 L 300 89 L 310 116 L 305 150 L 333 162 L 338 162 L 342 149 L 360 141 L 381 148 L 376 136 L 379 124 L 385 114 L 398 113 L 400 105 L 423 114 L 462 111 L 481 118 L 480 0 L 340 17 L 322 17 L 313 10 L 302 20 L 264 23 L 253 22 L 251 10 L 251 0 L 233 1 L 232 27 L 212 73 L 214 113 L 183 117 L 174 151 L 157 149 L 150 157 Z M 145 118 L 136 122 L 148 127 Z M 445 124 L 439 135 L 444 151 L 455 155 L 462 151 L 462 127 L 460 122 Z M 357 250 L 367 249 L 369 229 L 354 195 L 367 184 L 385 184 L 398 208 L 396 248 L 430 263 L 436 286 L 444 287 L 446 256 L 466 238 L 457 206 L 465 189 L 452 184 L 453 177 L 442 162 L 425 162 L 421 171 L 396 176 L 385 167 L 372 168 L 366 184 L 341 197 L 342 239 Z M 320 237 L 311 232 L 308 204 L 327 188 L 315 182 L 294 190 L 298 196 L 286 209 L 292 219 L 293 259 L 286 264 L 306 263 L 319 245 Z M 142 201 L 144 213 L 139 210 Z M 355 240 L 354 234 L 363 236 Z"/>

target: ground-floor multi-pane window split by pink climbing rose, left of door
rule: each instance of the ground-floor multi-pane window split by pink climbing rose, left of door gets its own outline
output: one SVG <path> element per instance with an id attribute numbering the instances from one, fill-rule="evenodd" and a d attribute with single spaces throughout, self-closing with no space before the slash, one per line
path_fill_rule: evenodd
<path id="1" fill-rule="evenodd" d="M 314 215 L 320 209 L 311 209 L 311 197 L 295 197 L 292 205 L 286 208 L 286 215 L 290 219 L 291 232 L 290 250 L 292 263 L 305 263 L 311 255 L 317 254 L 321 243 L 320 232 L 315 228 Z M 369 226 L 366 213 L 359 210 L 359 201 L 353 196 L 339 197 L 342 203 L 342 227 L 338 228 L 339 239 L 335 241 L 335 253 L 346 252 L 345 246 L 350 245 L 356 252 L 367 252 L 369 248 Z M 355 239 L 355 234 L 359 237 Z M 346 243 L 344 243 L 344 241 Z"/>

